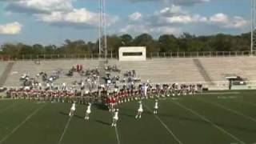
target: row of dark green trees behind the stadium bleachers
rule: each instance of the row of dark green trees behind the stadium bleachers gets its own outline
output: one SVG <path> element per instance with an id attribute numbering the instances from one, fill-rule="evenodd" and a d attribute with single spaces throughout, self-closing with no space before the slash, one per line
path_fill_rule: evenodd
<path id="1" fill-rule="evenodd" d="M 202 52 L 202 51 L 243 51 L 250 50 L 250 33 L 240 35 L 216 34 L 210 36 L 195 36 L 184 33 L 179 37 L 163 34 L 154 39 L 150 34 L 140 34 L 132 37 L 130 34 L 107 36 L 108 52 L 118 54 L 120 46 L 146 46 L 147 53 L 164 52 Z M 4 43 L 0 54 L 18 57 L 22 54 L 97 54 L 97 42 L 67 39 L 62 46 L 27 45 L 25 43 Z"/>

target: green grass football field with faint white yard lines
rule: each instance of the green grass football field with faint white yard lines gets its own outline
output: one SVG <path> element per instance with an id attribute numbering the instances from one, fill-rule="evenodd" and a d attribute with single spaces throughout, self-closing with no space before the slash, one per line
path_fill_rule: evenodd
<path id="1" fill-rule="evenodd" d="M 86 106 L 69 103 L 0 100 L 0 144 L 255 144 L 256 91 L 211 91 L 197 96 L 143 101 L 144 113 L 135 119 L 138 102 L 120 109 L 118 126 L 112 116 L 93 106 L 90 121 Z"/>

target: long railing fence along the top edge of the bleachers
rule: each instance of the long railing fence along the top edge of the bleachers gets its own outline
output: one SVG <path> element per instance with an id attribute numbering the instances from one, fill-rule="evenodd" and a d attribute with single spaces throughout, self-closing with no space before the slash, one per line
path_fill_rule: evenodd
<path id="1" fill-rule="evenodd" d="M 212 58 L 212 57 L 238 57 L 256 56 L 256 51 L 202 51 L 202 52 L 166 52 L 166 53 L 147 53 L 146 58 Z M 6 55 L 0 54 L 0 61 L 8 60 L 50 60 L 50 59 L 98 59 L 104 58 L 99 54 L 19 54 Z M 109 53 L 108 58 L 118 59 L 117 53 Z"/>

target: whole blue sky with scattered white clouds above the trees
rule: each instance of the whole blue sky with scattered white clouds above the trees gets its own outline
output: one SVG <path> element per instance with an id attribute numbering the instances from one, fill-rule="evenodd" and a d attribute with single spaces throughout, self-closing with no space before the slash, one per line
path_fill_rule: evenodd
<path id="1" fill-rule="evenodd" d="M 108 34 L 241 34 L 250 0 L 106 0 Z M 0 43 L 98 38 L 98 0 L 0 0 Z"/>

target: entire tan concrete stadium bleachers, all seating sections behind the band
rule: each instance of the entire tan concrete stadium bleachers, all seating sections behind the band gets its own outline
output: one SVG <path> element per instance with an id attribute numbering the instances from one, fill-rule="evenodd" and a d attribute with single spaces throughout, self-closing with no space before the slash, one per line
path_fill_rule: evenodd
<path id="1" fill-rule="evenodd" d="M 237 74 L 242 78 L 248 78 L 250 81 L 256 80 L 256 61 L 254 57 L 197 59 L 202 65 L 201 67 L 194 63 L 194 58 L 154 58 L 143 62 L 119 62 L 111 59 L 109 65 L 117 65 L 122 73 L 126 70 L 136 70 L 137 76 L 141 78 L 142 82 L 146 82 L 147 79 L 154 83 L 206 82 L 202 70 L 200 72 L 202 67 L 213 82 L 225 81 L 225 74 Z M 22 74 L 35 77 L 40 72 L 51 74 L 58 69 L 67 72 L 77 64 L 82 64 L 84 70 L 94 69 L 98 66 L 98 60 L 52 60 L 41 61 L 40 65 L 35 64 L 34 61 L 17 61 L 10 70 L 4 86 L 20 86 L 19 78 Z M 0 62 L 0 75 L 2 75 L 6 65 L 7 62 Z M 56 83 L 70 83 L 75 80 L 81 80 L 81 77 L 78 74 L 74 74 L 72 78 L 63 76 Z"/>

